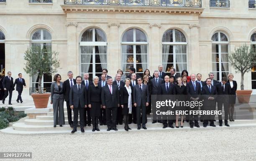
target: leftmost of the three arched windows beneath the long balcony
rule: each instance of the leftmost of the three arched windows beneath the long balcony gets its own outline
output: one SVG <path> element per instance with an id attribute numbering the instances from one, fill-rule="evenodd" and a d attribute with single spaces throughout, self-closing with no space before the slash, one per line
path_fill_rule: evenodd
<path id="1" fill-rule="evenodd" d="M 89 73 L 100 76 L 102 69 L 107 68 L 107 38 L 102 30 L 86 30 L 80 41 L 80 74 Z"/>

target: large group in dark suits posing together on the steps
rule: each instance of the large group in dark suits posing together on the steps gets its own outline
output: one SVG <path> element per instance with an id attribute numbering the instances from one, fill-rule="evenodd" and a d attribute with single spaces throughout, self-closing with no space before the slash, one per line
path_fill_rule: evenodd
<path id="1" fill-rule="evenodd" d="M 131 130 L 129 124 L 132 122 L 137 124 L 137 129 L 146 128 L 147 114 L 154 111 L 155 107 L 151 107 L 151 95 L 184 95 L 186 99 L 191 101 L 207 100 L 207 106 L 201 107 L 200 110 L 215 110 L 216 102 L 218 110 L 222 111 L 224 106 L 225 126 L 228 125 L 228 115 L 230 121 L 233 120 L 234 104 L 236 101 L 237 83 L 233 81 L 233 74 L 229 74 L 228 78 L 223 77 L 220 82 L 214 80 L 214 73 L 209 73 L 209 78 L 202 81 L 202 75 L 188 75 L 187 70 L 182 71 L 182 76 L 176 73 L 172 68 L 170 75 L 163 71 L 163 66 L 159 65 L 158 70 L 154 71 L 153 76 L 146 69 L 143 77 L 136 73 L 136 69 L 131 67 L 129 74 L 125 78 L 122 70 L 118 70 L 115 79 L 108 74 L 107 69 L 102 70 L 100 77 L 95 76 L 93 81 L 89 81 L 89 74 L 84 73 L 84 80 L 81 76 L 73 78 L 72 71 L 68 72 L 68 79 L 63 83 L 60 81 L 61 76 L 56 74 L 51 85 L 51 103 L 54 107 L 54 127 L 62 126 L 64 121 L 63 103 L 67 103 L 67 116 L 70 127 L 73 128 L 72 133 L 77 131 L 80 126 L 84 132 L 84 126 L 91 126 L 92 131 L 100 131 L 98 124 L 107 125 L 107 131 L 117 131 L 118 124 L 124 123 L 126 131 Z M 197 80 L 196 80 L 197 78 Z M 223 99 L 220 96 L 232 95 L 231 99 Z M 218 96 L 218 97 L 217 97 Z M 229 101 L 227 101 L 229 100 Z M 181 107 L 186 109 L 186 107 Z M 72 110 L 74 119 L 72 121 Z M 199 110 L 199 107 L 193 110 Z M 78 121 L 79 115 L 79 121 Z M 214 117 L 201 116 L 204 127 L 210 121 L 210 126 L 214 125 Z M 219 115 L 219 123 L 222 126 L 222 116 Z M 186 116 L 189 120 L 191 128 L 200 127 L 198 123 L 198 115 Z M 178 125 L 179 115 L 176 119 L 164 119 L 161 116 L 154 117 L 152 123 L 163 123 L 163 128 Z M 184 116 L 181 115 L 180 127 L 183 127 Z M 100 123 L 99 123 L 100 122 Z"/>

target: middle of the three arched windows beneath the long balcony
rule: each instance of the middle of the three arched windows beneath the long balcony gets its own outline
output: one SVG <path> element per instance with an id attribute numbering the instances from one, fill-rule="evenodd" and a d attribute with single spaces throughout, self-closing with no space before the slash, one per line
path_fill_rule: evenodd
<path id="1" fill-rule="evenodd" d="M 136 69 L 136 73 L 143 76 L 148 68 L 148 43 L 146 35 L 138 29 L 130 29 L 122 38 L 122 70 L 128 73 L 130 67 Z"/>

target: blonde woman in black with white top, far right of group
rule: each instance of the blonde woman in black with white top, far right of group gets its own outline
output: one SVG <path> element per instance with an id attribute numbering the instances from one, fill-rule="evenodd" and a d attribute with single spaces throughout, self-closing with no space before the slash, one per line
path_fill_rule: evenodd
<path id="1" fill-rule="evenodd" d="M 236 104 L 236 89 L 237 89 L 237 83 L 233 80 L 234 75 L 232 73 L 228 74 L 228 83 L 231 86 L 231 93 L 229 97 L 229 107 L 228 107 L 228 115 L 229 115 L 229 121 L 235 121 L 233 118 L 234 110 L 235 110 L 235 104 Z"/>

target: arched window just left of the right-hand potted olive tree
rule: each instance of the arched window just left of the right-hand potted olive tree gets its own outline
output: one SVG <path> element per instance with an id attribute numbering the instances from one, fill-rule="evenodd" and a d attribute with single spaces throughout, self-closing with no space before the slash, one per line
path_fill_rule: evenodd
<path id="1" fill-rule="evenodd" d="M 224 33 L 212 35 L 212 72 L 217 81 L 228 76 L 228 48 L 228 38 Z"/>

